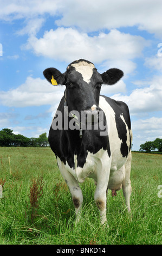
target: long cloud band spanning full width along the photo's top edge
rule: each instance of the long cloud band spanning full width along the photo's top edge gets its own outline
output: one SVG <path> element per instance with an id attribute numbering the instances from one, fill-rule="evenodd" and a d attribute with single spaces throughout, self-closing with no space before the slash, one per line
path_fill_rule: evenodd
<path id="1" fill-rule="evenodd" d="M 161 0 L 0 0 L 0 6 L 0 19 L 5 21 L 49 14 L 57 26 L 85 32 L 137 26 L 162 38 Z"/>

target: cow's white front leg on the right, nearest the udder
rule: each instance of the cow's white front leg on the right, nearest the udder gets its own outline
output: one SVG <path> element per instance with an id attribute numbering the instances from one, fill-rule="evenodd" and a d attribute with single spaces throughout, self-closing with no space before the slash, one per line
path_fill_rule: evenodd
<path id="1" fill-rule="evenodd" d="M 100 166 L 98 167 L 98 169 L 100 171 L 97 174 L 97 184 L 94 194 L 94 200 L 96 205 L 98 206 L 98 209 L 100 210 L 101 224 L 106 224 L 106 192 L 109 179 L 109 168 L 101 168 Z"/>

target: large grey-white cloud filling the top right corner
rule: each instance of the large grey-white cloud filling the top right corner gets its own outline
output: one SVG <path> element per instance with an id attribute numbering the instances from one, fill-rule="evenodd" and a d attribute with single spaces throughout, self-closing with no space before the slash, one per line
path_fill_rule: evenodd
<path id="1" fill-rule="evenodd" d="M 56 24 L 85 31 L 137 26 L 161 38 L 161 8 L 161 0 L 89 0 L 86 4 L 82 0 L 69 0 L 64 3 L 62 17 Z"/>

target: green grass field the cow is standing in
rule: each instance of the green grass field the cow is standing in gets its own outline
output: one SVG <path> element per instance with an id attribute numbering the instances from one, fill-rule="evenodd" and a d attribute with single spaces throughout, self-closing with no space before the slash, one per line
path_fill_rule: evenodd
<path id="1" fill-rule="evenodd" d="M 132 221 L 122 190 L 117 197 L 108 191 L 109 228 L 100 225 L 91 179 L 80 185 L 82 218 L 75 225 L 71 195 L 50 148 L 0 148 L 0 161 L 0 244 L 161 244 L 161 155 L 132 153 Z"/>

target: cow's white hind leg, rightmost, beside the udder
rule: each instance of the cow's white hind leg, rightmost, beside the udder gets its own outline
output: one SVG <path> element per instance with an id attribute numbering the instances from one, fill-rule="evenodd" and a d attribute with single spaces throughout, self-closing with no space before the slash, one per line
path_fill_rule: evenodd
<path id="1" fill-rule="evenodd" d="M 128 159 L 125 163 L 125 179 L 122 182 L 122 191 L 126 200 L 126 206 L 127 206 L 128 212 L 131 212 L 131 208 L 130 208 L 130 197 L 132 192 L 131 180 L 130 180 L 131 160 L 132 160 L 132 154 L 130 151 Z"/>

